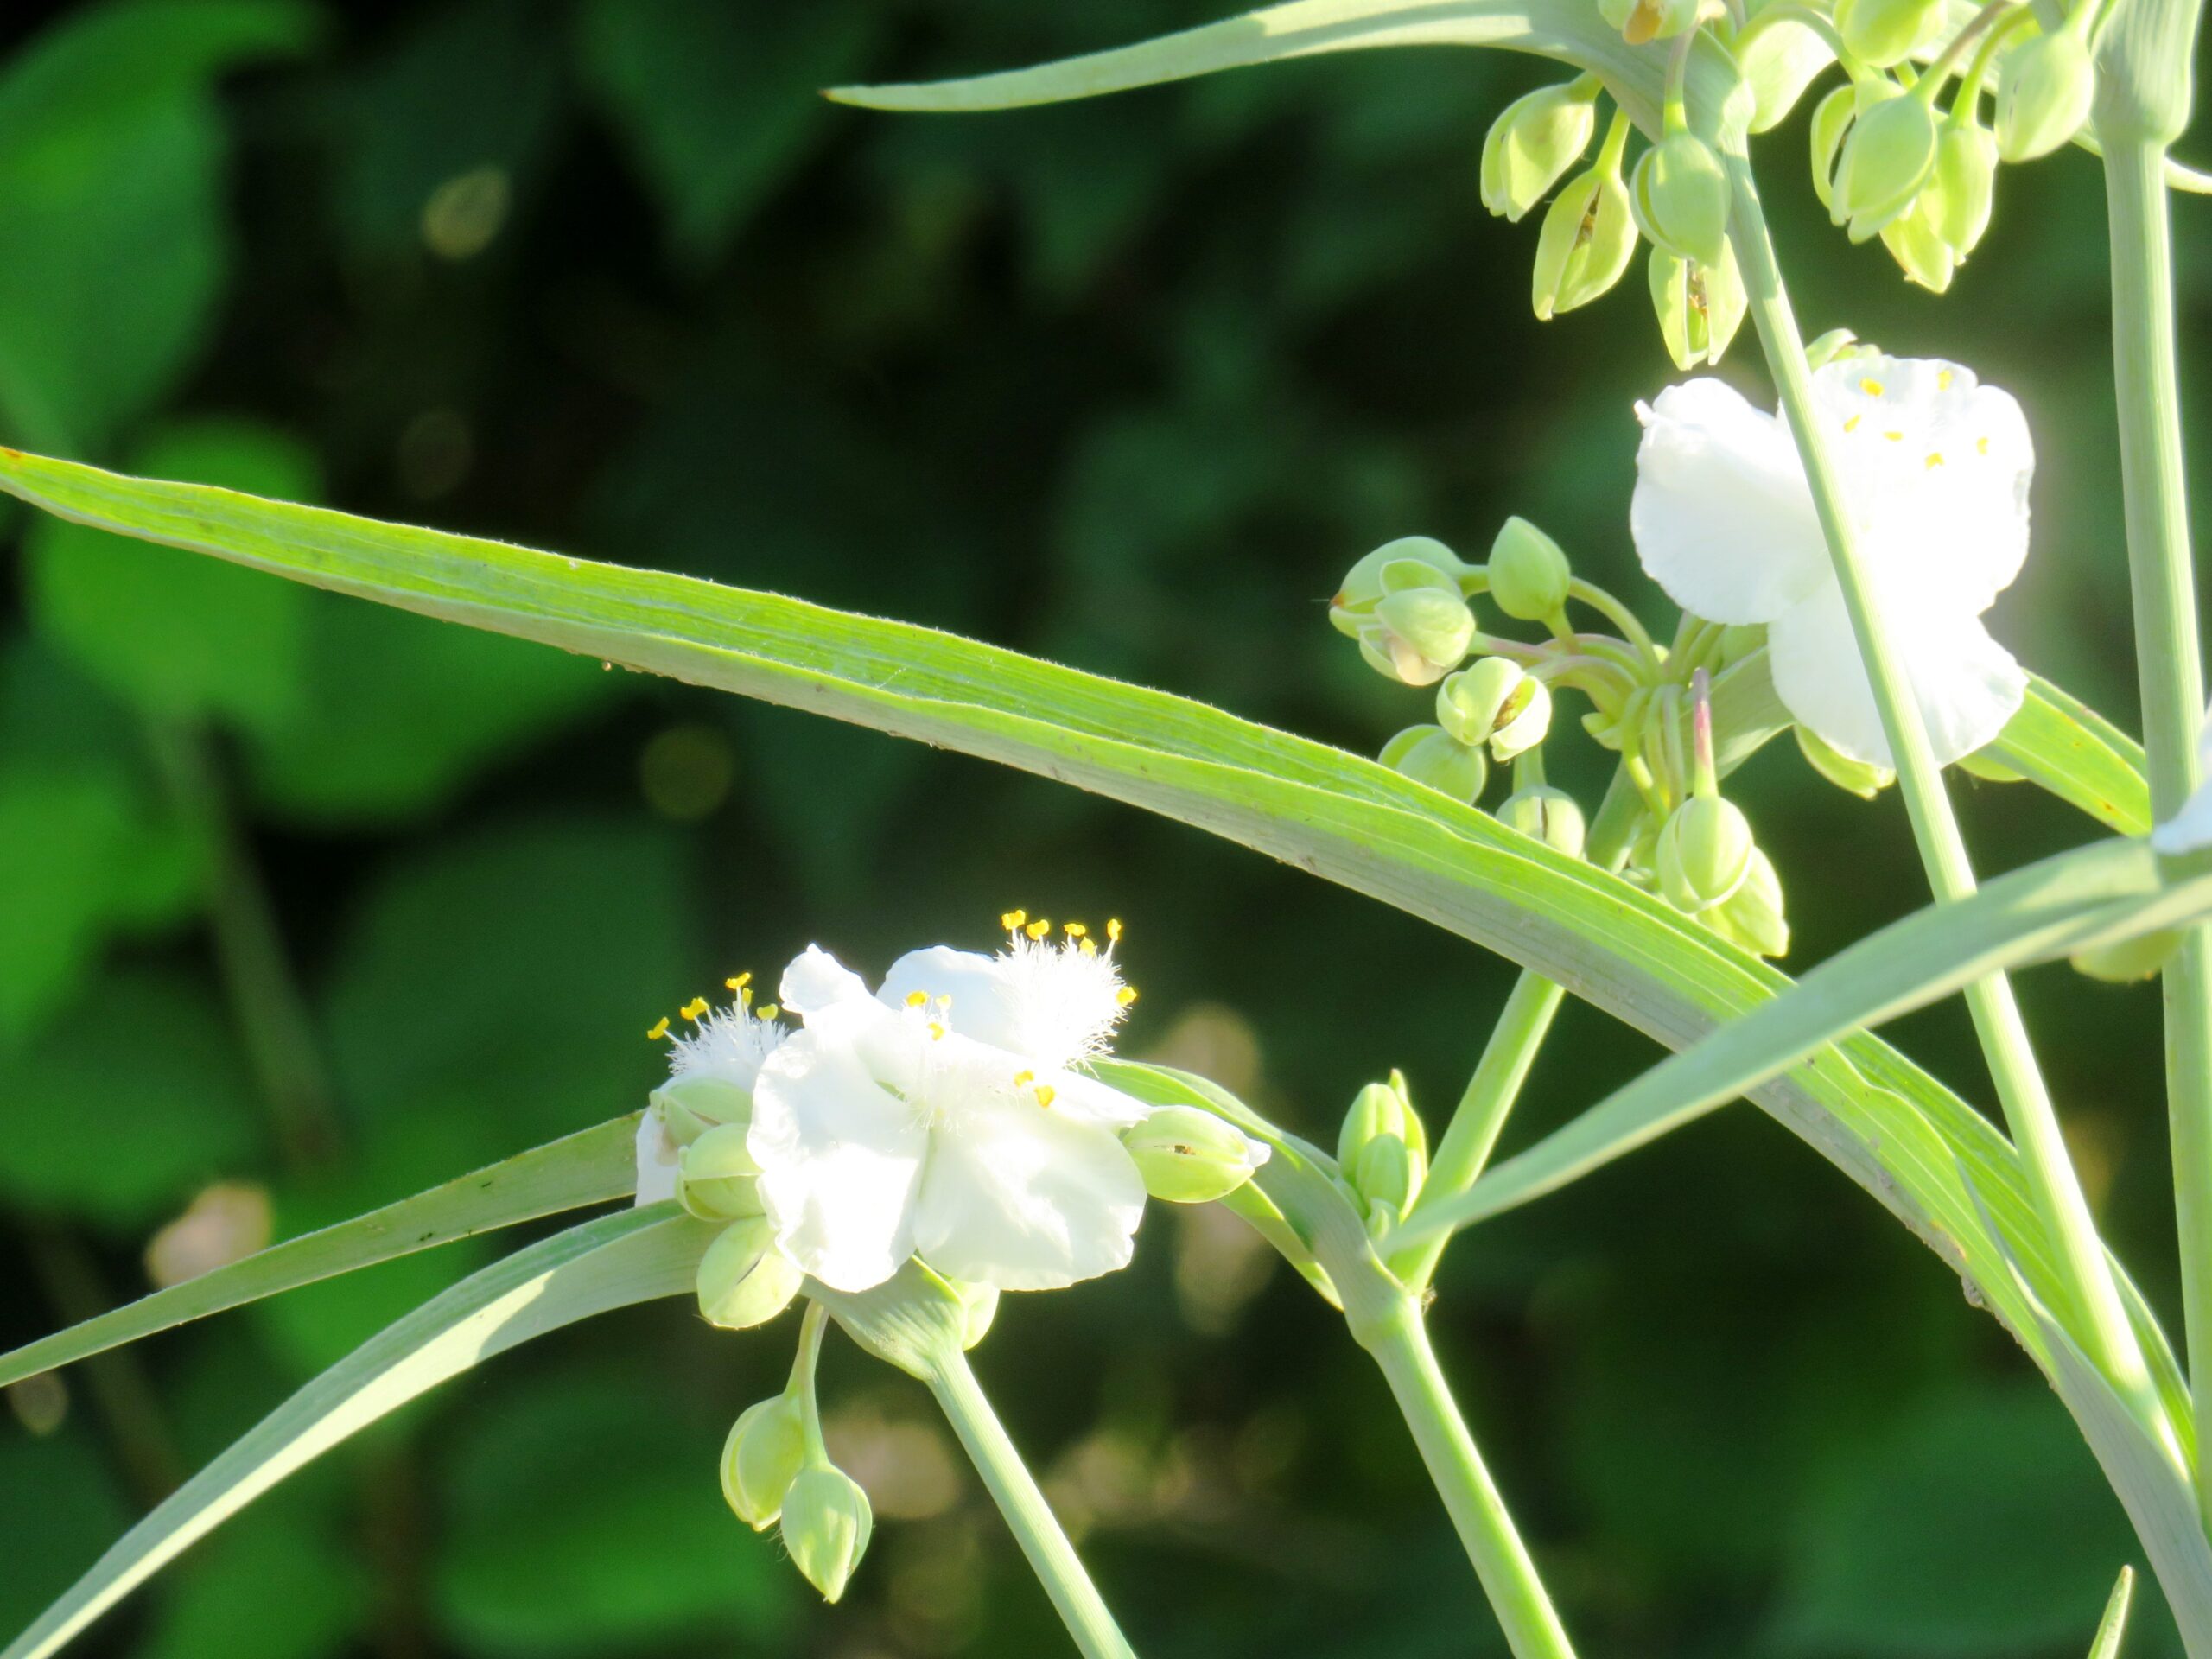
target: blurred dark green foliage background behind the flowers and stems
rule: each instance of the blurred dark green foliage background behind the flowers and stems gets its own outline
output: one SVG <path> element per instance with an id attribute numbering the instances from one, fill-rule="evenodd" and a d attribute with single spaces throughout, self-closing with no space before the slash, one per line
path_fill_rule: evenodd
<path id="1" fill-rule="evenodd" d="M 1323 619 L 1369 546 L 1511 511 L 1646 615 L 1641 263 L 1526 307 L 1489 117 L 1544 66 L 1358 53 L 1088 106 L 812 88 L 1006 66 L 1199 0 L 108 0 L 0 24 L 0 440 L 973 633 L 1374 750 L 1422 699 Z M 2000 637 L 2132 726 L 2101 192 L 2006 173 L 1947 301 L 1761 177 L 1809 330 L 2013 387 L 2044 451 Z M 2212 204 L 2179 201 L 2183 323 Z M 2185 363 L 2194 367 L 2201 358 Z M 1750 338 L 1730 378 L 1765 396 Z M 2201 394 L 2201 376 L 2190 392 Z M 2203 409 L 2203 398 L 2197 398 Z M 2212 431 L 2212 427 L 2205 427 Z M 2199 456 L 2199 473 L 2205 473 Z M 1197 832 L 975 761 L 0 513 L 0 1345 L 637 1106 L 655 1015 L 807 940 L 1128 920 L 1128 1048 L 1334 1135 L 1431 1121 L 1509 973 Z M 1555 761 L 1584 787 L 1597 757 Z M 1743 774 L 1794 964 L 1920 902 L 1893 799 Z M 1960 779 L 1986 867 L 2086 838 Z M 2090 1192 L 2172 1305 L 2154 1002 L 2024 984 Z M 1986 1099 L 1955 1011 L 1900 1031 Z M 1522 1141 L 1652 1060 L 1571 1006 Z M 181 1471 L 500 1243 L 301 1292 L 0 1413 L 0 1635 Z M 2081 1652 L 2117 1504 L 1955 1279 L 1736 1106 L 1451 1256 L 1438 1340 L 1588 1655 Z M 91 1650 L 1062 1650 L 927 1400 L 832 1340 L 880 1526 L 823 1610 L 714 1455 L 792 1327 L 635 1310 L 449 1385 Z M 1340 1323 L 1214 1212 L 980 1352 L 1152 1659 L 1500 1650 Z M 2157 1595 L 2132 1652 L 2172 1648 Z"/>

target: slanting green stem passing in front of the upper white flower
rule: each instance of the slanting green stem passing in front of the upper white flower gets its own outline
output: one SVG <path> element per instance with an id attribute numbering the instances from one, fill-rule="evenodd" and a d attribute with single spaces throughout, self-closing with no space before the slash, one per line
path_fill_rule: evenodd
<path id="1" fill-rule="evenodd" d="M 1874 686 L 1874 701 L 1882 714 L 1882 734 L 1889 739 L 1898 770 L 1898 792 L 1905 796 L 1905 810 L 1913 823 L 1929 887 L 1938 902 L 1958 900 L 1973 891 L 1966 843 L 1958 832 L 1951 799 L 1944 794 L 1942 774 L 1929 748 L 1920 701 L 1889 628 L 1874 608 L 1874 595 L 1858 562 L 1858 533 L 1845 504 L 1827 431 L 1812 403 L 1812 369 L 1805 363 L 1805 343 L 1790 314 L 1790 296 L 1783 292 L 1781 270 L 1774 263 L 1774 243 L 1759 206 L 1759 186 L 1741 150 L 1728 157 L 1728 170 L 1734 184 L 1736 263 L 1743 268 L 1759 341 L 1790 416 L 1790 434 L 1805 462 L 1814 511 L 1827 538 L 1836 582 L 1851 617 L 1851 633 L 1858 637 L 1867 679 Z M 1982 1053 L 1989 1060 L 1997 1099 L 2004 1104 L 2006 1126 L 2020 1150 L 2037 1219 L 2057 1252 L 2064 1301 L 2075 1314 L 2070 1323 L 2081 1334 L 2084 1347 L 2135 1402 L 2143 1420 L 2161 1422 L 2150 1371 L 2112 1283 L 2110 1261 L 2090 1219 L 2088 1199 L 2081 1197 L 2081 1183 L 2066 1157 L 2057 1113 L 2037 1071 L 2035 1051 L 2028 1046 L 2028 1031 L 2020 1018 L 2020 1004 L 2013 1000 L 2011 980 L 1997 973 L 1966 987 L 1966 1006 L 1982 1037 Z"/>

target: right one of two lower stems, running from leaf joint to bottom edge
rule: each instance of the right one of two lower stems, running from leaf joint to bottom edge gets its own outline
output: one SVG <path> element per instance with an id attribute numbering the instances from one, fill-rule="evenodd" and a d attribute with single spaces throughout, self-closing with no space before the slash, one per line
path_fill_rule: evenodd
<path id="1" fill-rule="evenodd" d="M 1413 1431 L 1429 1480 L 1451 1513 L 1451 1524 L 1475 1564 L 1475 1577 L 1482 1579 L 1515 1659 L 1575 1659 L 1575 1644 L 1568 1641 L 1566 1626 L 1544 1593 L 1528 1546 L 1522 1544 L 1504 1498 L 1498 1495 L 1491 1471 L 1460 1420 L 1460 1407 L 1436 1365 L 1436 1349 L 1429 1347 L 1429 1332 L 1413 1301 L 1400 1301 L 1394 1316 L 1356 1334 L 1398 1398 L 1398 1411 Z"/>

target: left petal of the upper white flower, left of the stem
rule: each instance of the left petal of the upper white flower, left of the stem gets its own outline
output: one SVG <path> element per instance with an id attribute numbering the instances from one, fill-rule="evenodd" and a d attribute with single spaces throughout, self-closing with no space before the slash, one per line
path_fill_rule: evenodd
<path id="1" fill-rule="evenodd" d="M 1725 380 L 1644 411 L 1628 529 L 1646 573 L 1710 622 L 1772 622 L 1829 568 L 1787 427 Z"/>

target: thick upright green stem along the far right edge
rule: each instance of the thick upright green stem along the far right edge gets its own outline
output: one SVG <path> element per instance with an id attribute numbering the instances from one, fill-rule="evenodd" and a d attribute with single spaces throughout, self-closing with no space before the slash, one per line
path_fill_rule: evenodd
<path id="1" fill-rule="evenodd" d="M 2112 234 L 2112 376 L 2128 504 L 2135 655 L 2143 690 L 2150 810 L 2170 818 L 2197 790 L 2203 664 L 2181 462 L 2174 272 L 2166 146 L 2112 137 L 2104 153 Z M 2197 1444 L 2212 1433 L 2212 933 L 2192 927 L 2166 967 L 2166 1110 L 2181 1234 L 2181 1305 Z M 2212 1524 L 2199 1458 L 2197 1506 Z"/>

